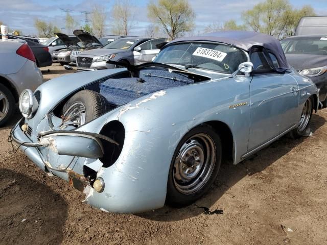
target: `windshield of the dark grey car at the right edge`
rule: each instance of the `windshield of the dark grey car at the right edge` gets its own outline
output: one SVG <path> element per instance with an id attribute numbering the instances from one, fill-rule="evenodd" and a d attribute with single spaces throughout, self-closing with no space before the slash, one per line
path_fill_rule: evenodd
<path id="1" fill-rule="evenodd" d="M 299 37 L 281 41 L 285 54 L 325 55 L 327 37 Z"/>

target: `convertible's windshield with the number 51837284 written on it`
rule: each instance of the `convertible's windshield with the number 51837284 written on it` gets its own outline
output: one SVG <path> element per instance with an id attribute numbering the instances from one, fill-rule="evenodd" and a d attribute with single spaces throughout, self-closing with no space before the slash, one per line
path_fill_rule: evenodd
<path id="1" fill-rule="evenodd" d="M 154 62 L 231 74 L 248 61 L 244 51 L 223 43 L 187 42 L 164 48 Z"/>

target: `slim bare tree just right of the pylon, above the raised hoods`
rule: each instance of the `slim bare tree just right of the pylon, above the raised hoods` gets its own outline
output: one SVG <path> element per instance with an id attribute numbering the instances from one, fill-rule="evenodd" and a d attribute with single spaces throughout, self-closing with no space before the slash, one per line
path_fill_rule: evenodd
<path id="1" fill-rule="evenodd" d="M 106 18 L 105 8 L 100 5 L 95 5 L 91 12 L 92 28 L 90 28 L 95 36 L 102 37 L 105 34 Z"/>

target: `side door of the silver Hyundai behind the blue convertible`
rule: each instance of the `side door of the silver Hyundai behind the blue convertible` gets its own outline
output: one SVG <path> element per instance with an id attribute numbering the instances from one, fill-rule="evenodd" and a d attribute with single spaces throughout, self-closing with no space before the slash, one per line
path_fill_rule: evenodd
<path id="1" fill-rule="evenodd" d="M 160 51 L 156 45 L 165 41 L 166 38 L 156 38 L 136 46 L 133 51 L 134 64 L 139 65 L 146 62 L 151 62 L 152 58 L 155 57 Z"/>

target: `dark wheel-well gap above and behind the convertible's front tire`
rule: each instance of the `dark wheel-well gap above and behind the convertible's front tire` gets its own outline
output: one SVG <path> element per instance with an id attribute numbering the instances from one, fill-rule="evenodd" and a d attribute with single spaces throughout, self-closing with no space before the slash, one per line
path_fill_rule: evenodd
<path id="1" fill-rule="evenodd" d="M 204 124 L 211 126 L 219 134 L 222 142 L 222 159 L 233 160 L 234 143 L 229 127 L 221 121 L 207 121 Z"/>

